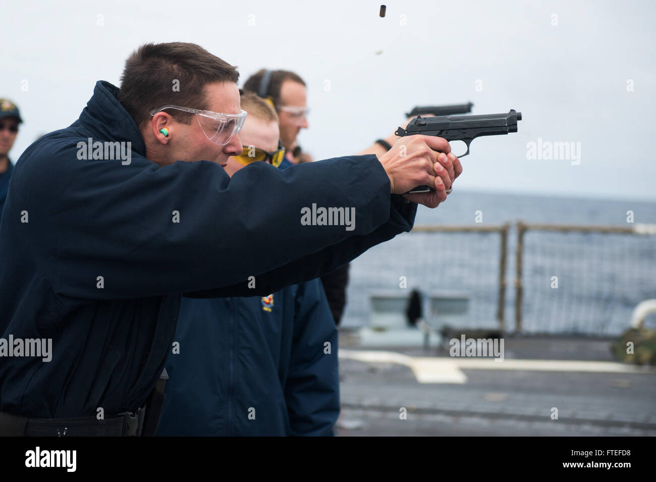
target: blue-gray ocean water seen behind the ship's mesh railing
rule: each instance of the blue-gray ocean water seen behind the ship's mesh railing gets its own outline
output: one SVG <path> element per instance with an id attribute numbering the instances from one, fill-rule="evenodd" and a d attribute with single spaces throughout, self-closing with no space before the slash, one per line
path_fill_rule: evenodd
<path id="1" fill-rule="evenodd" d="M 632 224 L 627 222 L 628 211 Z M 482 222 L 476 222 L 477 216 Z M 437 209 L 420 207 L 416 225 L 511 223 L 503 302 L 508 331 L 516 327 L 518 220 L 633 227 L 656 224 L 656 203 L 453 191 Z M 369 323 L 373 292 L 409 294 L 416 287 L 424 293 L 464 292 L 470 298 L 469 310 L 459 324 L 499 327 L 500 252 L 499 233 L 398 235 L 352 262 L 342 326 Z M 656 298 L 656 235 L 529 230 L 524 235 L 522 287 L 522 332 L 615 336 L 628 327 L 638 302 Z"/>

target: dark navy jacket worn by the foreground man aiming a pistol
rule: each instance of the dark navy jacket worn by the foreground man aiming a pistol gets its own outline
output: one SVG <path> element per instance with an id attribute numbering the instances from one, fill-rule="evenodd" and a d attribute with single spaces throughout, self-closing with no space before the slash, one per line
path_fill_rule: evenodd
<path id="1" fill-rule="evenodd" d="M 0 359 L 0 411 L 134 410 L 171 353 L 183 293 L 266 296 L 412 227 L 417 206 L 390 196 L 375 155 L 286 171 L 258 163 L 232 180 L 209 161 L 159 167 L 117 94 L 96 83 L 79 119 L 14 167 L 0 224 L 0 252 L 10 253 L 0 264 L 0 334 L 52 338 L 52 361 Z M 131 142 L 131 163 L 78 159 L 88 138 Z M 312 203 L 355 207 L 355 230 L 302 226 Z"/>

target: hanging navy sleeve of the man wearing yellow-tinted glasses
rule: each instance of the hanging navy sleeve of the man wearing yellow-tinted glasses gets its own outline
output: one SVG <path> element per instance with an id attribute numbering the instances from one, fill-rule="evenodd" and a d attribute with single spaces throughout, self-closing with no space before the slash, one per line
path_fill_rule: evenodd
<path id="1" fill-rule="evenodd" d="M 285 400 L 291 435 L 333 435 L 340 409 L 337 327 L 318 279 L 298 287 Z"/>

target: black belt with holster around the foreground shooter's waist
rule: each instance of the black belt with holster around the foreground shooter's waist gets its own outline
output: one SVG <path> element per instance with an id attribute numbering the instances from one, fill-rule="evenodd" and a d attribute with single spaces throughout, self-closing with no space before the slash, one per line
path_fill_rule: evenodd
<path id="1" fill-rule="evenodd" d="M 135 412 L 121 412 L 104 420 L 98 420 L 92 416 L 28 418 L 0 412 L 0 435 L 6 437 L 139 437 L 155 435 L 165 399 L 164 386 L 168 378 L 169 375 L 164 370 L 143 407 Z M 148 412 L 146 412 L 146 407 L 150 407 Z"/>

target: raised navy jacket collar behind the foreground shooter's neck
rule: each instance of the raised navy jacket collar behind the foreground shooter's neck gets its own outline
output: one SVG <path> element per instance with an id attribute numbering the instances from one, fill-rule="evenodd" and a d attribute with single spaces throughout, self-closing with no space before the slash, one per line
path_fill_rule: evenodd
<path id="1" fill-rule="evenodd" d="M 106 81 L 96 82 L 93 96 L 80 114 L 79 122 L 92 138 L 132 142 L 132 150 L 146 155 L 146 144 L 134 119 L 118 101 L 119 89 Z"/>

